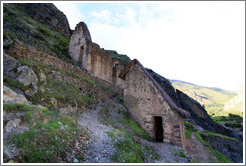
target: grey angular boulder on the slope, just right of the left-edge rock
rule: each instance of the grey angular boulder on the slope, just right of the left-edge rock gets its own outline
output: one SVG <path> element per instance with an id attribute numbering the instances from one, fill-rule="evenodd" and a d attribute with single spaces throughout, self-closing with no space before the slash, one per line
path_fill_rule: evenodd
<path id="1" fill-rule="evenodd" d="M 17 68 L 16 79 L 24 86 L 30 85 L 31 83 L 37 83 L 38 78 L 31 67 L 20 66 Z"/>

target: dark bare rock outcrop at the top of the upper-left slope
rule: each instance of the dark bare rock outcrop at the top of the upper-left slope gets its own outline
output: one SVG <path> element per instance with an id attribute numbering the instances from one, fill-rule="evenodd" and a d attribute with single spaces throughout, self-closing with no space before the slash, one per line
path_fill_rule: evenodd
<path id="1" fill-rule="evenodd" d="M 34 19 L 50 28 L 61 32 L 65 36 L 71 36 L 71 30 L 67 17 L 58 10 L 52 3 L 21 3 L 19 6 L 25 8 L 25 11 Z"/>

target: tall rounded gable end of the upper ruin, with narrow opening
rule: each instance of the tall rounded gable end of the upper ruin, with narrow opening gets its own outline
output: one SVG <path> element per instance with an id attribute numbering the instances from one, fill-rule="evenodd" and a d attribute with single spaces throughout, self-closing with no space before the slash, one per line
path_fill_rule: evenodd
<path id="1" fill-rule="evenodd" d="M 88 53 L 91 40 L 91 35 L 87 25 L 80 22 L 76 25 L 73 35 L 70 39 L 69 54 L 74 62 L 87 70 Z"/>

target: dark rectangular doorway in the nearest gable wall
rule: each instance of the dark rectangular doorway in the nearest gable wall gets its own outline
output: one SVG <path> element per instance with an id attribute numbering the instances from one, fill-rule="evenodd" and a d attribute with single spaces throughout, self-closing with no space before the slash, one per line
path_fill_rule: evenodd
<path id="1" fill-rule="evenodd" d="M 163 142 L 163 127 L 162 127 L 162 117 L 154 116 L 154 130 L 155 130 L 155 141 Z"/>

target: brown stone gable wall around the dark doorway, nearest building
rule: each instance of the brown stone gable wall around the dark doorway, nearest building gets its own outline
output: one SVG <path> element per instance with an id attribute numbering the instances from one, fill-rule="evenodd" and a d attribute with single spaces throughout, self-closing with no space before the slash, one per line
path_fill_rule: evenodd
<path id="1" fill-rule="evenodd" d="M 126 75 L 124 103 L 153 139 L 155 139 L 154 117 L 160 116 L 163 122 L 163 142 L 184 145 L 182 116 L 171 109 L 139 64 L 135 64 Z"/>

